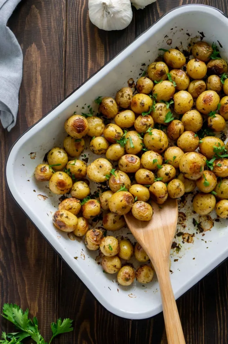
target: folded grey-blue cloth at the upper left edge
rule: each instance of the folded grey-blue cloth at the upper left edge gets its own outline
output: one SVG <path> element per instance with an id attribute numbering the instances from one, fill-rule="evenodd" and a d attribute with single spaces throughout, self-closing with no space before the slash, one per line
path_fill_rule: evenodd
<path id="1" fill-rule="evenodd" d="M 0 0 L 0 120 L 10 131 L 16 122 L 23 55 L 16 37 L 6 26 L 20 0 Z"/>

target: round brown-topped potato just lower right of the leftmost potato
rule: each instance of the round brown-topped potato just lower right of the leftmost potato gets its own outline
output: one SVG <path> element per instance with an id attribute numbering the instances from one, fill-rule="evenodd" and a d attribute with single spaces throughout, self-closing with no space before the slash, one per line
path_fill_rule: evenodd
<path id="1" fill-rule="evenodd" d="M 70 191 L 72 184 L 73 182 L 70 176 L 65 172 L 59 171 L 51 176 L 49 189 L 57 195 L 63 195 Z"/>

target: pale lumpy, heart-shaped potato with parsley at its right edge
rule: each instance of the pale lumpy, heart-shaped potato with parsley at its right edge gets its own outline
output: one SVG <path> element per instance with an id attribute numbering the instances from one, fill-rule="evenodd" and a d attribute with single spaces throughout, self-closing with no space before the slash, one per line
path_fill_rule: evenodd
<path id="1" fill-rule="evenodd" d="M 87 175 L 89 179 L 97 183 L 103 183 L 107 180 L 106 174 L 110 174 L 112 164 L 104 158 L 99 158 L 87 166 Z"/>

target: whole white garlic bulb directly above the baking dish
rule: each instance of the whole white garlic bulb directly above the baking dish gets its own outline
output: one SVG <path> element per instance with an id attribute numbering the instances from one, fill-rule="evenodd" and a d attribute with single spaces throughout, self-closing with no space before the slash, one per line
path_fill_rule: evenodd
<path id="1" fill-rule="evenodd" d="M 99 29 L 122 30 L 132 20 L 130 0 L 89 0 L 89 19 Z"/>

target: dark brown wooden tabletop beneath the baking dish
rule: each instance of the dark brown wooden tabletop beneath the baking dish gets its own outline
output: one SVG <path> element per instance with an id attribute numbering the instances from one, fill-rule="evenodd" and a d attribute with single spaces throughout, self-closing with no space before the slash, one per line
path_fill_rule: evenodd
<path id="1" fill-rule="evenodd" d="M 172 8 L 202 3 L 227 13 L 226 0 L 157 0 L 133 10 L 127 29 L 98 30 L 88 19 L 87 0 L 22 0 L 9 26 L 21 44 L 24 65 L 19 113 L 10 133 L 0 128 L 0 309 L 4 302 L 28 307 L 41 333 L 50 336 L 57 317 L 74 320 L 74 331 L 55 343 L 167 343 L 163 315 L 132 321 L 106 311 L 61 261 L 8 194 L 4 161 L 12 143 L 90 75 Z M 228 263 L 178 300 L 188 344 L 228 343 Z M 12 326 L 0 319 L 1 330 Z M 178 343 L 177 343 L 178 344 Z"/>

